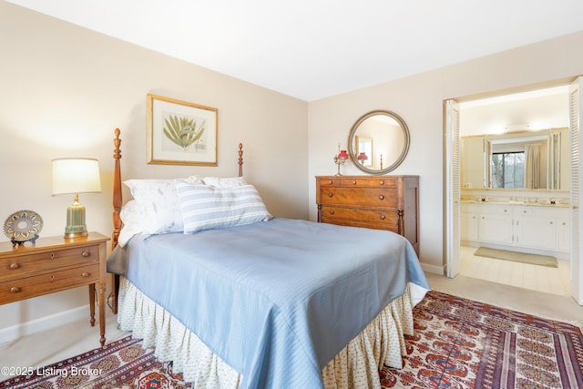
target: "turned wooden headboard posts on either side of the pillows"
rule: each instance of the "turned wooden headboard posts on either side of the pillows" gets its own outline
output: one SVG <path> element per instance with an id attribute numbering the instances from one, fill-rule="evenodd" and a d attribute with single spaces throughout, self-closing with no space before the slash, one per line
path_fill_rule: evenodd
<path id="1" fill-rule="evenodd" d="M 113 232 L 111 235 L 111 250 L 118 246 L 119 231 L 123 227 L 123 222 L 121 221 L 120 213 L 121 207 L 123 205 L 123 197 L 121 194 L 121 164 L 119 160 L 121 159 L 121 139 L 119 135 L 121 130 L 116 128 L 115 131 L 116 138 L 113 139 L 113 159 L 114 159 L 114 173 L 113 173 Z M 243 177 L 243 144 L 239 144 L 239 177 Z M 118 313 L 118 292 L 119 292 L 119 276 L 117 274 L 113 275 L 113 289 L 114 292 L 111 293 L 112 302 L 111 310 L 114 313 Z"/>

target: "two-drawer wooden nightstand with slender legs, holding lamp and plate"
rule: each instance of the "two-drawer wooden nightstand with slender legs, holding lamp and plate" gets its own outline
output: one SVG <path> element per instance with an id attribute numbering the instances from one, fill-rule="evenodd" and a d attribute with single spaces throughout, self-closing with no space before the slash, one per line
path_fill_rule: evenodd
<path id="1" fill-rule="evenodd" d="M 107 238 L 40 238 L 33 246 L 0 242 L 0 304 L 89 285 L 90 324 L 95 325 L 95 293 L 99 305 L 101 345 L 106 343 L 105 290 Z"/>

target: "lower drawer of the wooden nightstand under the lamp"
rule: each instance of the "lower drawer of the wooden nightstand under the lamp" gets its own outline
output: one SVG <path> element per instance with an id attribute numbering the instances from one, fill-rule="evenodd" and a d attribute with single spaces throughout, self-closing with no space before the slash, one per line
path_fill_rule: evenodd
<path id="1" fill-rule="evenodd" d="M 15 302 L 95 282 L 99 282 L 99 263 L 0 282 L 0 303 Z"/>

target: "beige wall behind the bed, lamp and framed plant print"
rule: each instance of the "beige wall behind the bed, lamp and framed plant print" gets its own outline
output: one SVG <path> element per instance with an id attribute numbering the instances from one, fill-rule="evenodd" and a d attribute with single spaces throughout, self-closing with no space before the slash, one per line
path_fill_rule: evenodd
<path id="1" fill-rule="evenodd" d="M 244 172 L 276 216 L 307 219 L 308 104 L 0 1 L 0 218 L 36 210 L 41 236 L 65 230 L 68 197 L 51 197 L 51 159 L 99 159 L 103 192 L 81 196 L 87 226 L 111 232 L 113 130 L 122 179 Z M 233 58 L 236 60 L 236 58 Z M 219 166 L 146 163 L 146 95 L 219 109 Z M 7 241 L 4 233 L 1 241 Z M 163 282 L 163 281 L 162 281 Z M 0 306 L 6 327 L 87 304 L 87 288 Z"/>

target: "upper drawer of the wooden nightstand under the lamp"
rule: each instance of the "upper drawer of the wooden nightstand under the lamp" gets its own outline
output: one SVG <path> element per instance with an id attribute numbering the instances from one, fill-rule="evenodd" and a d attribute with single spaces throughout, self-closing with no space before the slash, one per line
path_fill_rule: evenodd
<path id="1" fill-rule="evenodd" d="M 0 282 L 37 271 L 78 266 L 99 261 L 99 245 L 44 251 L 0 259 Z"/>

